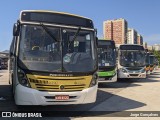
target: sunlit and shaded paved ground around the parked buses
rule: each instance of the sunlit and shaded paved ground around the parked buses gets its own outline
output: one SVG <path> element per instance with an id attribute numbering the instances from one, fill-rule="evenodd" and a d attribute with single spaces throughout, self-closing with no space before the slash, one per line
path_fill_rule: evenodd
<path id="1" fill-rule="evenodd" d="M 160 110 L 156 107 L 160 101 L 160 70 L 150 75 L 147 79 L 132 79 L 122 82 L 100 84 L 97 94 L 97 101 L 94 104 L 88 105 L 65 105 L 65 106 L 32 106 L 18 109 L 14 104 L 11 96 L 11 88 L 8 85 L 7 71 L 0 71 L 0 111 L 103 111 L 97 112 L 97 116 L 104 115 L 108 111 L 130 111 L 130 110 Z M 152 86 L 153 87 L 150 87 Z M 155 87 L 154 87 L 155 86 Z M 149 89 L 147 89 L 149 88 Z M 138 93 L 138 94 L 135 94 Z M 147 95 L 148 93 L 155 94 L 154 98 Z M 144 97 L 142 97 L 144 96 Z M 151 102 L 149 102 L 151 101 Z M 152 101 L 156 101 L 152 105 Z M 149 106 L 148 106 L 149 105 Z M 153 107 L 154 106 L 154 107 Z M 151 109 L 151 110 L 152 110 Z M 106 113 L 104 112 L 106 111 Z M 92 113 L 93 114 L 93 113 Z M 65 118 L 70 119 L 70 118 Z M 75 119 L 75 118 L 74 118 Z M 79 118 L 76 118 L 79 119 Z M 86 119 L 86 118 L 85 118 Z M 47 119 L 48 120 L 48 119 Z"/>

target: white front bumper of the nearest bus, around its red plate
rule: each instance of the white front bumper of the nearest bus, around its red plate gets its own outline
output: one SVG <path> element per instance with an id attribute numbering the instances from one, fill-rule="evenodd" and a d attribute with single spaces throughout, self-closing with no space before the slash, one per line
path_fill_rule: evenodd
<path id="1" fill-rule="evenodd" d="M 87 104 L 96 101 L 98 85 L 76 92 L 42 92 L 36 89 L 16 86 L 16 105 L 68 105 Z M 69 100 L 55 100 L 56 95 L 67 95 Z"/>

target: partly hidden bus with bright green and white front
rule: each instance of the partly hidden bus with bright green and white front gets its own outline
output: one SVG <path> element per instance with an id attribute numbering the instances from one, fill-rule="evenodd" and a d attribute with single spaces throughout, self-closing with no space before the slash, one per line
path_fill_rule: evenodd
<path id="1" fill-rule="evenodd" d="M 98 40 L 98 82 L 117 81 L 116 47 L 113 40 Z"/>

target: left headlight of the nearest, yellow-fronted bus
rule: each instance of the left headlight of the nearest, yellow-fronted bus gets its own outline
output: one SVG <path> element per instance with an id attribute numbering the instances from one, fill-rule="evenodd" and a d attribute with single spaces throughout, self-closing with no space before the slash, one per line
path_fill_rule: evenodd
<path id="1" fill-rule="evenodd" d="M 27 76 L 25 75 L 23 70 L 18 68 L 17 75 L 18 75 L 18 81 L 21 85 L 23 85 L 25 87 L 30 87 Z"/>

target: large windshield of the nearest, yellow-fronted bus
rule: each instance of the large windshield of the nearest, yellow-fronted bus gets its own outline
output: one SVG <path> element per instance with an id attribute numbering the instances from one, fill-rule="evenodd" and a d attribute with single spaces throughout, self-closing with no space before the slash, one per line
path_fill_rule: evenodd
<path id="1" fill-rule="evenodd" d="M 19 65 L 48 72 L 89 72 L 96 69 L 94 31 L 22 25 Z M 54 39 L 53 39 L 54 38 Z"/>

